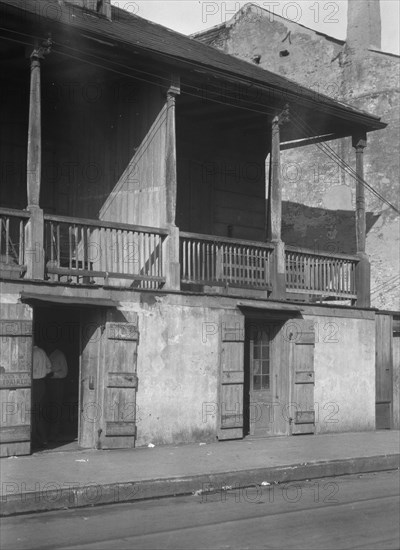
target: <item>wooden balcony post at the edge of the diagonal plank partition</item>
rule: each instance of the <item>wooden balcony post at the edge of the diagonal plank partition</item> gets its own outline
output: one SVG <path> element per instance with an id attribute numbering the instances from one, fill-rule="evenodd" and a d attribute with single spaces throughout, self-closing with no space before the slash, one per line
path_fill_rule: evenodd
<path id="1" fill-rule="evenodd" d="M 166 221 L 170 234 L 165 241 L 166 287 L 180 289 L 179 229 L 176 221 L 177 168 L 176 168 L 176 114 L 175 100 L 180 94 L 178 75 L 171 76 L 167 91 L 167 124 L 165 143 Z"/>

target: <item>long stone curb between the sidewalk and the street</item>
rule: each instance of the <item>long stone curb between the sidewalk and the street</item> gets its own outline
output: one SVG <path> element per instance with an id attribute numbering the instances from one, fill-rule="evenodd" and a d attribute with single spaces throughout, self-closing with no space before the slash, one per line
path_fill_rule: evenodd
<path id="1" fill-rule="evenodd" d="M 111 484 L 69 485 L 48 482 L 35 491 L 15 491 L 16 483 L 4 482 L 0 516 L 47 512 L 67 508 L 121 504 L 178 495 L 206 494 L 235 488 L 258 487 L 263 483 L 289 483 L 309 479 L 396 470 L 400 454 L 308 462 L 290 466 L 246 469 L 216 474 L 150 479 Z M 268 490 L 268 488 L 266 487 Z"/>

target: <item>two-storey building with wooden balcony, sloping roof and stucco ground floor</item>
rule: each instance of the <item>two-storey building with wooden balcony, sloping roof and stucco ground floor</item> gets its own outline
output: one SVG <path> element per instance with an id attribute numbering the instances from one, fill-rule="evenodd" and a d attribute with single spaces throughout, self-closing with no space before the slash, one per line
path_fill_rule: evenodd
<path id="1" fill-rule="evenodd" d="M 378 389 L 395 427 L 365 253 L 386 124 L 107 2 L 0 6 L 2 455 L 45 414 L 33 343 L 67 357 L 83 448 L 373 430 Z M 281 150 L 327 136 L 356 158 L 353 253 L 282 238 Z"/>

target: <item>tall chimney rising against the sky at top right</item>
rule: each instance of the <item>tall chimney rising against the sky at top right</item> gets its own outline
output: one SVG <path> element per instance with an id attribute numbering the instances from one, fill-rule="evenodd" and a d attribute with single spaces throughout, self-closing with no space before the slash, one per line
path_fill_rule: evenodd
<path id="1" fill-rule="evenodd" d="M 381 49 L 380 0 L 348 0 L 347 45 L 355 53 Z"/>

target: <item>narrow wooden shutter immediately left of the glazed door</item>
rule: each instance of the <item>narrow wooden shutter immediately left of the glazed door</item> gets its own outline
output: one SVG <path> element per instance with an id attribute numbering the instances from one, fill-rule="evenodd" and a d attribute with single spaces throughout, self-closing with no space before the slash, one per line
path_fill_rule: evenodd
<path id="1" fill-rule="evenodd" d="M 243 437 L 244 316 L 224 315 L 221 327 L 218 439 Z"/>

